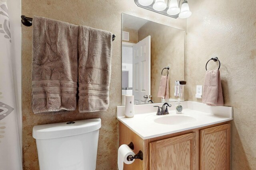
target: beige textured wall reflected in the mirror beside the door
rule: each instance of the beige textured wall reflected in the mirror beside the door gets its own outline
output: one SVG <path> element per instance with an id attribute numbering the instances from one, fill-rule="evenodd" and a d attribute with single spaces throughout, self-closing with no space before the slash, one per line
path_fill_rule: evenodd
<path id="1" fill-rule="evenodd" d="M 169 94 L 174 99 L 174 81 L 184 80 L 184 31 L 155 22 L 147 22 L 138 31 L 138 40 L 151 36 L 151 95 L 155 103 L 161 72 L 169 66 Z M 163 75 L 166 75 L 166 69 Z"/>

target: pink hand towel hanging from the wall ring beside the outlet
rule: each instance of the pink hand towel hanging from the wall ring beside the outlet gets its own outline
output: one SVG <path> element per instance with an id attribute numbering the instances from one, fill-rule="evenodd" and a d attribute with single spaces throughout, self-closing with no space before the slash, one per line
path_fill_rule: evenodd
<path id="1" fill-rule="evenodd" d="M 209 106 L 224 105 L 220 82 L 220 71 L 218 69 L 206 71 L 202 102 Z"/>

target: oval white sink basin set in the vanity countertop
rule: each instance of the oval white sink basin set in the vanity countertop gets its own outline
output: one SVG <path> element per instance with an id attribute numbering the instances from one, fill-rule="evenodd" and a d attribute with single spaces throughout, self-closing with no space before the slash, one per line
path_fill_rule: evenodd
<path id="1" fill-rule="evenodd" d="M 154 122 L 165 125 L 180 125 L 196 121 L 194 117 L 186 115 L 168 115 L 154 119 Z"/>

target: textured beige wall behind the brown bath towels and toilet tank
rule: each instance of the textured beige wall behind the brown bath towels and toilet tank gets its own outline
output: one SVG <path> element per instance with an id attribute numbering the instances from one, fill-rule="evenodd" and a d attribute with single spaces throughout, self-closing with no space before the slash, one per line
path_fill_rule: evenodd
<path id="1" fill-rule="evenodd" d="M 102 127 L 98 143 L 97 169 L 117 169 L 118 121 L 116 106 L 121 105 L 121 13 L 186 29 L 185 20 L 139 8 L 134 0 L 22 0 L 22 14 L 44 16 L 73 24 L 87 25 L 116 34 L 112 49 L 110 106 L 107 111 L 79 113 L 66 111 L 61 115 L 34 115 L 31 109 L 32 27 L 22 25 L 22 118 L 23 168 L 38 170 L 34 125 L 100 117 Z"/>

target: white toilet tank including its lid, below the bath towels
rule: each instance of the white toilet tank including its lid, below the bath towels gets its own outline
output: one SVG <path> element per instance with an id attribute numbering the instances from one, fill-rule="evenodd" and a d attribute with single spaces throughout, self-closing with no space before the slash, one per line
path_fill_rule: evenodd
<path id="1" fill-rule="evenodd" d="M 101 119 L 33 127 L 40 170 L 95 170 Z"/>

